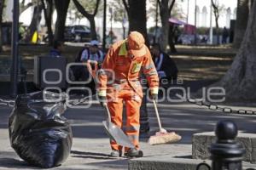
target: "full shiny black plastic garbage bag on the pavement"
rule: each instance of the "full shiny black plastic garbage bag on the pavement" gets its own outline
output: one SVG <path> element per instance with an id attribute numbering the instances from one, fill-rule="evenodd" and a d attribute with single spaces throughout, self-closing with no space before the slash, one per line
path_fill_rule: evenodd
<path id="1" fill-rule="evenodd" d="M 20 95 L 9 117 L 10 143 L 20 158 L 32 166 L 59 166 L 71 150 L 72 130 L 61 116 L 66 106 L 63 100 L 56 101 L 54 95 L 49 92 Z"/>

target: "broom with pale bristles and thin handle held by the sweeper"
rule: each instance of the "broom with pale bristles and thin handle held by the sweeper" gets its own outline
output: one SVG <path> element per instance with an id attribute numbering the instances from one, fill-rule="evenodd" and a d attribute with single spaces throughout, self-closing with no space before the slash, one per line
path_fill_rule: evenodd
<path id="1" fill-rule="evenodd" d="M 155 100 L 153 100 L 153 104 L 154 104 L 154 112 L 157 117 L 160 131 L 155 133 L 154 136 L 150 136 L 150 138 L 148 139 L 148 143 L 152 144 L 152 145 L 154 145 L 154 144 L 170 144 L 170 143 L 174 143 L 174 142 L 177 142 L 180 139 L 182 139 L 182 137 L 179 136 L 177 133 L 174 133 L 174 132 L 168 133 L 166 131 L 166 129 L 162 128 L 162 125 L 160 122 L 160 116 L 158 113 L 158 109 L 157 109 Z"/>

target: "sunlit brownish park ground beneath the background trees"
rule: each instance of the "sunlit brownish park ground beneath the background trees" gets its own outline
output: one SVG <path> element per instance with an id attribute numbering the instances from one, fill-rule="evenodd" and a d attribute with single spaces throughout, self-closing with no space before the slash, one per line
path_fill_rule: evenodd
<path id="1" fill-rule="evenodd" d="M 63 56 L 72 62 L 83 44 L 66 44 Z M 50 47 L 47 45 L 21 45 L 20 56 L 29 74 L 33 74 L 33 59 L 38 55 L 48 55 Z M 177 46 L 177 54 L 171 54 L 177 63 L 179 77 L 183 80 L 218 80 L 229 69 L 236 56 L 236 49 L 230 45 L 224 46 Z M 5 47 L 0 59 L 11 58 L 9 47 Z"/>

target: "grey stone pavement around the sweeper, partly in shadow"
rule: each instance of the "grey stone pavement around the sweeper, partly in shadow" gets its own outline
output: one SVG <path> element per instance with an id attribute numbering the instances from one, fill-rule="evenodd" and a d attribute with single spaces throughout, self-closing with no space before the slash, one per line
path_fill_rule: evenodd
<path id="1" fill-rule="evenodd" d="M 160 104 L 160 116 L 163 126 L 169 131 L 176 131 L 183 136 L 178 144 L 151 146 L 147 138 L 141 139 L 145 159 L 159 157 L 191 157 L 191 139 L 193 133 L 212 131 L 219 120 L 233 120 L 241 131 L 255 133 L 255 116 L 229 115 L 218 111 L 208 111 L 197 105 Z M 255 110 L 255 108 L 253 108 Z M 11 109 L 0 107 L 0 169 L 37 169 L 29 167 L 16 156 L 9 144 L 8 117 Z M 157 130 L 153 107 L 148 105 L 151 131 Z M 128 159 L 108 157 L 110 148 L 108 136 L 102 128 L 105 115 L 99 105 L 90 109 L 67 109 L 65 116 L 73 127 L 73 148 L 67 161 L 54 169 L 128 169 Z"/>

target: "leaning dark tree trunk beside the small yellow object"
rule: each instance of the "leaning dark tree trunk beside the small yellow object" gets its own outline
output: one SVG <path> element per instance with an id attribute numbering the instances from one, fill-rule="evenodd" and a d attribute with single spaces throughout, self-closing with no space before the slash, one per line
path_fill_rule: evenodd
<path id="1" fill-rule="evenodd" d="M 34 7 L 32 21 L 30 23 L 30 26 L 28 27 L 28 34 L 26 36 L 26 42 L 31 42 L 34 32 L 38 30 L 38 26 L 42 19 L 42 16 L 41 16 L 42 10 L 43 10 L 42 4 L 39 4 L 38 6 Z"/>

